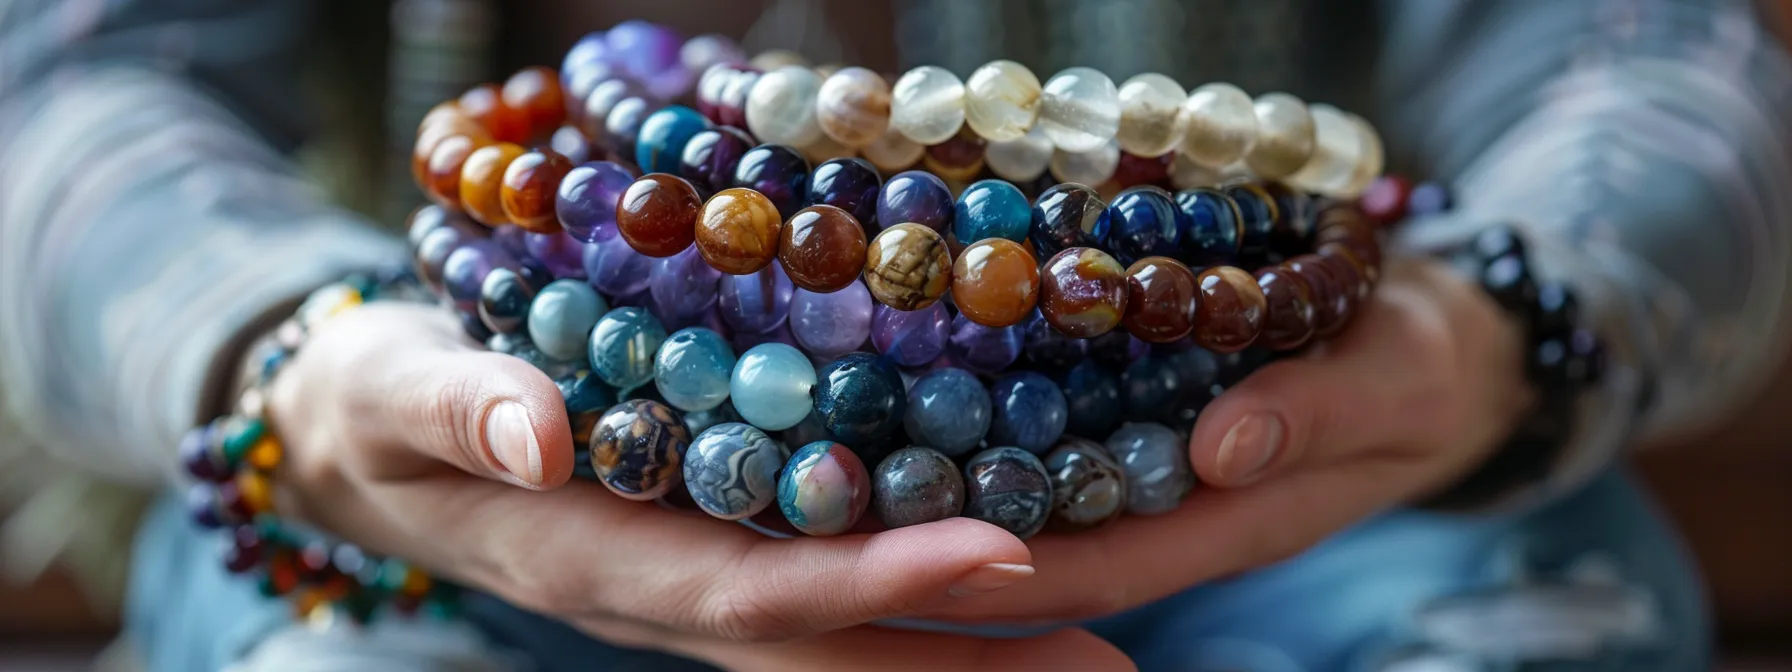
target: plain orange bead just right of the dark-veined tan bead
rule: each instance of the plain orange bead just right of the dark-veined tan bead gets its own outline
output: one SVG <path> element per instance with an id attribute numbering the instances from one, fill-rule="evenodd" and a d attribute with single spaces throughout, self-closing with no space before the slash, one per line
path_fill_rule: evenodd
<path id="1" fill-rule="evenodd" d="M 952 265 L 952 303 L 977 324 L 1016 324 L 1038 299 L 1039 262 L 1014 240 L 973 242 Z"/>

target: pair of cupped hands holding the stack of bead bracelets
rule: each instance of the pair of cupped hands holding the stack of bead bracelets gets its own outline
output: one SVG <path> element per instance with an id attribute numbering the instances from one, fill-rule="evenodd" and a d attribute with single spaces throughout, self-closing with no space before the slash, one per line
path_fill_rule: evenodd
<path id="1" fill-rule="evenodd" d="M 1029 541 L 969 518 L 771 539 L 570 482 L 556 385 L 430 306 L 326 321 L 269 403 L 285 513 L 616 645 L 731 670 L 1125 670 L 1075 624 L 1297 554 L 1486 459 L 1529 403 L 1518 342 L 1475 287 L 1396 260 L 1346 335 L 1202 410 L 1202 486 L 1177 511 Z"/>

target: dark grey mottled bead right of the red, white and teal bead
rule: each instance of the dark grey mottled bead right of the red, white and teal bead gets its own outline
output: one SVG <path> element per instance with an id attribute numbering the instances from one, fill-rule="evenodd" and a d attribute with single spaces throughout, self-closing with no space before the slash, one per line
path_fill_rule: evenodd
<path id="1" fill-rule="evenodd" d="M 871 505 L 889 529 L 957 518 L 964 513 L 964 477 L 937 450 L 909 446 L 878 462 Z"/>

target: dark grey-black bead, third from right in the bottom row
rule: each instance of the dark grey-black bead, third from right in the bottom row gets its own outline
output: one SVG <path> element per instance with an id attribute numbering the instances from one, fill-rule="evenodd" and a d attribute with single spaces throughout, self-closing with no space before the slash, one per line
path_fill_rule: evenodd
<path id="1" fill-rule="evenodd" d="M 1039 457 L 1020 448 L 989 448 L 964 464 L 964 518 L 982 520 L 1027 539 L 1052 514 L 1052 482 Z"/>

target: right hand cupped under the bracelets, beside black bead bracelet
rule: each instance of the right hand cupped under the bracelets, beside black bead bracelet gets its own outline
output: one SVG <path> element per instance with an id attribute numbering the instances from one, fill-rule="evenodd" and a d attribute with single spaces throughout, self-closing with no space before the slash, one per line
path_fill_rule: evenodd
<path id="1" fill-rule="evenodd" d="M 1177 511 L 1029 541 L 1038 575 L 950 620 L 1068 622 L 1258 568 L 1478 466 L 1530 403 L 1518 326 L 1435 262 L 1396 260 L 1349 332 L 1208 405 Z M 1111 568 L 1124 566 L 1125 572 Z"/>

